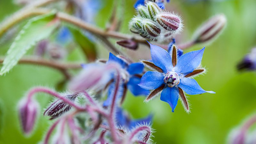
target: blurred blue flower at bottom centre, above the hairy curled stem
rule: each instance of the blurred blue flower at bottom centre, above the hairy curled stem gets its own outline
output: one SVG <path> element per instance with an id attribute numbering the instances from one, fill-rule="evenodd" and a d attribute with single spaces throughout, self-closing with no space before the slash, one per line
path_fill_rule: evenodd
<path id="1" fill-rule="evenodd" d="M 142 119 L 131 119 L 122 108 L 116 109 L 116 125 L 121 126 L 122 128 L 126 128 L 128 130 L 131 130 L 132 128 L 140 124 L 150 124 L 152 121 L 152 117 L 153 115 L 150 114 Z"/>

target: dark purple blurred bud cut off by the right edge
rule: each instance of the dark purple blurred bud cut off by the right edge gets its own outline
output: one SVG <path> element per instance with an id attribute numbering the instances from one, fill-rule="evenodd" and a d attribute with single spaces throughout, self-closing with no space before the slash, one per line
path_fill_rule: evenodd
<path id="1" fill-rule="evenodd" d="M 247 54 L 244 59 L 238 63 L 238 70 L 256 70 L 256 48 L 252 48 L 251 53 Z"/>

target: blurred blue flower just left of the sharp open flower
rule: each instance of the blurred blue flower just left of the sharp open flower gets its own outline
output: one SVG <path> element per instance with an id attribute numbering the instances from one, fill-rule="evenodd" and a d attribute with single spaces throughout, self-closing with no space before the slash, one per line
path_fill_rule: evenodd
<path id="1" fill-rule="evenodd" d="M 118 58 L 111 52 L 109 53 L 109 59 L 107 63 L 118 63 L 123 69 L 122 71 L 122 77 L 123 81 L 122 84 L 120 84 L 119 87 L 119 93 L 118 97 L 124 97 L 126 94 L 126 89 L 128 88 L 133 95 L 148 95 L 149 91 L 141 88 L 138 84 L 141 80 L 141 75 L 144 69 L 144 65 L 140 62 L 137 63 L 129 63 L 124 58 Z M 104 101 L 103 106 L 108 106 L 111 104 L 111 101 L 113 99 L 113 93 L 115 89 L 115 83 L 114 81 L 111 81 L 108 88 L 108 98 L 106 101 Z"/>

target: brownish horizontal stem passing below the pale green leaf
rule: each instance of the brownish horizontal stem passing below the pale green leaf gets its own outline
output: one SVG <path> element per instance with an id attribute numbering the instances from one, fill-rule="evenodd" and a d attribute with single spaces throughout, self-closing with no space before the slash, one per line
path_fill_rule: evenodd
<path id="1" fill-rule="evenodd" d="M 0 58 L 0 63 L 3 63 L 4 58 Z M 19 60 L 20 64 L 33 64 L 33 65 L 41 65 L 41 66 L 46 66 L 50 68 L 54 68 L 59 70 L 66 79 L 70 79 L 70 75 L 68 74 L 68 69 L 79 69 L 82 68 L 80 64 L 76 63 L 60 63 L 56 61 L 51 61 L 51 60 L 45 60 L 42 58 L 38 57 L 31 57 L 31 58 L 21 58 Z"/>

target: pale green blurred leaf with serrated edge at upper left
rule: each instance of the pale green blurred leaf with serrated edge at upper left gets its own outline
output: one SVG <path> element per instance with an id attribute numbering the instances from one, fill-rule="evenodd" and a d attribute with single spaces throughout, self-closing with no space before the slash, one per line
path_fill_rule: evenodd
<path id="1" fill-rule="evenodd" d="M 9 72 L 36 42 L 51 35 L 59 23 L 58 20 L 54 18 L 55 12 L 50 12 L 36 16 L 28 21 L 8 50 L 0 75 Z"/>

